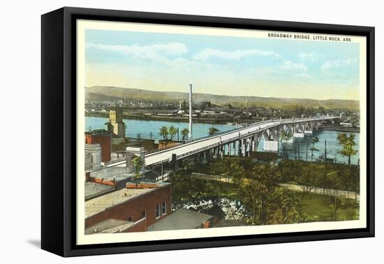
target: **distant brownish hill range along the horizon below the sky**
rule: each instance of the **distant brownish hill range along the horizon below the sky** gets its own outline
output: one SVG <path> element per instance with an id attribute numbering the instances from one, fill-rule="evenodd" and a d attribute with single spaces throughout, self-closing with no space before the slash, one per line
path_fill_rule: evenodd
<path id="1" fill-rule="evenodd" d="M 86 101 L 115 101 L 115 100 L 145 100 L 145 101 L 188 101 L 188 93 L 179 91 L 149 91 L 144 89 L 94 86 L 85 88 Z M 216 94 L 193 94 L 193 102 L 211 102 L 216 105 L 231 104 L 235 107 L 260 108 L 292 108 L 296 105 L 304 107 L 339 110 L 359 110 L 360 102 L 357 100 L 315 100 L 309 98 L 275 98 L 258 96 L 224 96 Z"/>

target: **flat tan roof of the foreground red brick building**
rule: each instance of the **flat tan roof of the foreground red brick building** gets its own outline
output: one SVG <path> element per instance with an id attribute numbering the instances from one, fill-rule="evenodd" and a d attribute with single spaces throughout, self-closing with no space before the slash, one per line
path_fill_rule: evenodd
<path id="1" fill-rule="evenodd" d="M 157 183 L 156 185 L 158 185 L 158 188 L 161 188 L 165 185 L 168 185 L 168 183 L 161 182 Z M 95 214 L 98 214 L 99 212 L 107 210 L 109 207 L 125 203 L 132 198 L 140 196 L 144 193 L 148 193 L 150 191 L 154 191 L 158 188 L 124 188 L 118 191 L 112 191 L 111 193 L 107 193 L 103 196 L 98 196 L 91 200 L 87 200 L 85 202 L 85 218 L 91 217 Z"/>

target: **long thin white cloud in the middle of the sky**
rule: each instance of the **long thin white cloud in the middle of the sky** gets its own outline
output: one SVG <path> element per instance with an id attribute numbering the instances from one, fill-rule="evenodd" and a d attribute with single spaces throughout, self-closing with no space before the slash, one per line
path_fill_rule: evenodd
<path id="1" fill-rule="evenodd" d="M 274 57 L 277 59 L 282 59 L 280 54 L 276 52 L 269 52 L 265 50 L 235 50 L 235 51 L 223 51 L 223 50 L 215 50 L 215 49 L 205 49 L 193 56 L 193 59 L 199 61 L 206 61 L 212 57 L 216 57 L 219 59 L 242 59 L 248 56 L 263 56 L 263 57 Z"/>

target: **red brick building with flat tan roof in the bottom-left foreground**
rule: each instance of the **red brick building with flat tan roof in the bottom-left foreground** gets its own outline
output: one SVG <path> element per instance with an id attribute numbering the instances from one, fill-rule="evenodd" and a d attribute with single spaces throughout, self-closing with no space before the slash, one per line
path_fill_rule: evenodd
<path id="1" fill-rule="evenodd" d="M 85 233 L 145 231 L 171 212 L 171 184 L 128 183 L 85 202 Z"/>

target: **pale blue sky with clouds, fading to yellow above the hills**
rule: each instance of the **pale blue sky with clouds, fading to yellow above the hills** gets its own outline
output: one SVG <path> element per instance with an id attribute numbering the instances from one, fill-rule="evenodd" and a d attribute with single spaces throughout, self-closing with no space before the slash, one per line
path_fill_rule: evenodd
<path id="1" fill-rule="evenodd" d="M 287 98 L 359 98 L 359 45 L 86 31 L 87 86 Z"/>

